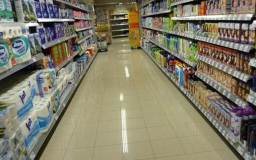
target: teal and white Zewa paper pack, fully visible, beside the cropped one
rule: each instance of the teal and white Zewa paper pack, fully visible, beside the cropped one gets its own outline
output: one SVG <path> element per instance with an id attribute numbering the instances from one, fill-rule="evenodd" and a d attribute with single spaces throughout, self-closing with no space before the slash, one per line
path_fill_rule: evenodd
<path id="1" fill-rule="evenodd" d="M 17 63 L 31 59 L 28 35 L 18 36 L 11 39 L 12 52 Z"/>

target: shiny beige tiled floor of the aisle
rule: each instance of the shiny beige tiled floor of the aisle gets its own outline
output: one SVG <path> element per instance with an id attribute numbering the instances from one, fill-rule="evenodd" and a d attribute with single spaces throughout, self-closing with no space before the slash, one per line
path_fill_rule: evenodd
<path id="1" fill-rule="evenodd" d="M 98 53 L 41 160 L 238 159 L 140 49 Z"/>

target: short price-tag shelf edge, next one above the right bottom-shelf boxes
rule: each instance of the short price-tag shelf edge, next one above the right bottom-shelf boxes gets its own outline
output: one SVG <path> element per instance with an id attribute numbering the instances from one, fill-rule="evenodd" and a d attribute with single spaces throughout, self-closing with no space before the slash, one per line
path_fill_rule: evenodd
<path id="1" fill-rule="evenodd" d="M 227 97 L 229 100 L 231 100 L 235 104 L 243 107 L 247 104 L 247 102 L 242 100 L 237 95 L 234 95 L 233 93 L 231 93 L 225 86 L 217 82 L 215 79 L 212 79 L 211 77 L 209 77 L 209 75 L 201 73 L 198 70 L 196 71 L 195 75 L 200 79 L 202 79 L 207 84 L 209 84 L 210 86 L 212 86 L 214 89 L 216 89 L 218 92 L 220 92 L 222 95 Z"/>

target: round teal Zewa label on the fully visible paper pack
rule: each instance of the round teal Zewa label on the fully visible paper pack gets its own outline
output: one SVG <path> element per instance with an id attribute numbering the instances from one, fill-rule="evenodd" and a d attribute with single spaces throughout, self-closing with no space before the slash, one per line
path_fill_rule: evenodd
<path id="1" fill-rule="evenodd" d="M 20 58 L 28 53 L 29 39 L 27 36 L 18 36 L 11 39 L 14 58 Z"/>

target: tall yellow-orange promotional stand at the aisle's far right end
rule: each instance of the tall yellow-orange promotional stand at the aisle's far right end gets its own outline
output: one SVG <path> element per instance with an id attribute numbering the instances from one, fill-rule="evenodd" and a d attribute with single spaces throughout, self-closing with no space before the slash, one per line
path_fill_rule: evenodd
<path id="1" fill-rule="evenodd" d="M 140 46 L 140 28 L 137 11 L 129 12 L 129 37 L 132 47 Z"/>

